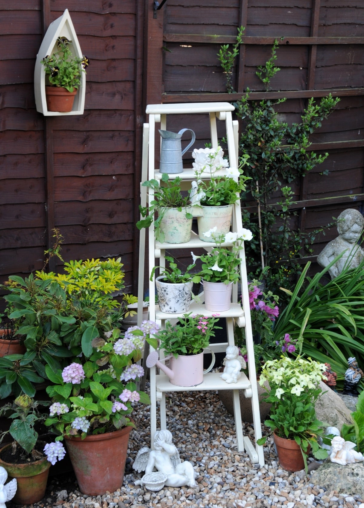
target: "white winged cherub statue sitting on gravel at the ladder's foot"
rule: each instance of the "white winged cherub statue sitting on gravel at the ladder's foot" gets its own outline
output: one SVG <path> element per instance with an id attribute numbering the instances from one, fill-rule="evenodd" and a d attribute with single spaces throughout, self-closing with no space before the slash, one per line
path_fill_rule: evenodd
<path id="1" fill-rule="evenodd" d="M 172 434 L 169 430 L 157 430 L 154 434 L 154 450 L 149 450 L 148 447 L 139 450 L 133 468 L 138 472 L 145 471 L 145 476 L 150 475 L 153 469 L 156 468 L 157 471 L 167 475 L 164 485 L 168 487 L 196 486 L 193 465 L 186 460 L 181 462 L 178 450 L 172 444 Z M 135 484 L 146 484 L 143 478 Z M 149 483 L 151 483 L 150 476 L 148 478 Z M 160 477 L 158 477 L 158 480 L 160 481 Z"/>

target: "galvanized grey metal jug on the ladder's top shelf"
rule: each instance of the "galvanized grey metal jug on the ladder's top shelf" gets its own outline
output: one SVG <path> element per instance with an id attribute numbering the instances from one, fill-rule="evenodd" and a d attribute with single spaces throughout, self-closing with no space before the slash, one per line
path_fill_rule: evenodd
<path id="1" fill-rule="evenodd" d="M 192 133 L 191 142 L 182 151 L 181 138 L 182 134 L 186 131 Z M 182 173 L 182 155 L 193 145 L 196 136 L 191 129 L 182 129 L 178 134 L 171 131 L 158 130 L 162 141 L 160 148 L 160 173 Z"/>

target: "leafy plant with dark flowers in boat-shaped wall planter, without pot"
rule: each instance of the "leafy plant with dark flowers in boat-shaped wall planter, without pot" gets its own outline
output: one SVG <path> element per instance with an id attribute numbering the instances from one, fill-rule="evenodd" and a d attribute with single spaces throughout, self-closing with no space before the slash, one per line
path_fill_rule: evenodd
<path id="1" fill-rule="evenodd" d="M 86 73 L 85 68 L 89 65 L 89 60 L 86 56 L 82 58 L 75 56 L 71 48 L 72 41 L 69 41 L 65 37 L 58 37 L 58 51 L 50 56 L 45 56 L 41 60 L 50 85 L 63 87 L 69 92 L 79 87 L 81 73 Z"/>

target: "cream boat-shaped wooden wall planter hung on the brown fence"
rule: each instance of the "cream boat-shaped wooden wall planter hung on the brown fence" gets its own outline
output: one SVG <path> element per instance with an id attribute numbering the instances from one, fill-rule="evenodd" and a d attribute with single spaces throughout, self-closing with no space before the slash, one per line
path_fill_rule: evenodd
<path id="1" fill-rule="evenodd" d="M 45 116 L 59 116 L 59 115 L 82 115 L 85 107 L 85 86 L 86 75 L 81 73 L 80 86 L 77 90 L 75 102 L 72 111 L 68 113 L 59 113 L 56 111 L 48 111 L 46 102 L 46 70 L 42 65 L 41 60 L 46 55 L 51 55 L 57 51 L 57 38 L 65 37 L 72 41 L 71 50 L 75 56 L 83 57 L 80 44 L 77 39 L 76 31 L 72 23 L 72 19 L 68 9 L 64 11 L 62 16 L 55 19 L 48 27 L 46 35 L 42 41 L 41 47 L 37 55 L 36 67 L 34 70 L 34 93 L 36 97 L 37 111 L 43 113 Z"/>

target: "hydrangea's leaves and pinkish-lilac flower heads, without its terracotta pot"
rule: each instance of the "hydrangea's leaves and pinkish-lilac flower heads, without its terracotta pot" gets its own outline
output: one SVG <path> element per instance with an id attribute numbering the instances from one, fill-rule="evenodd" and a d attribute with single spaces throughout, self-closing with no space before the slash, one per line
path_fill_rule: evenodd
<path id="1" fill-rule="evenodd" d="M 114 329 L 105 338 L 92 341 L 93 352 L 89 358 L 81 356 L 63 370 L 53 372 L 47 366 L 47 375 L 53 385 L 47 387 L 52 398 L 46 426 L 52 426 L 59 434 L 100 434 L 134 425 L 130 420 L 135 402 L 150 404 L 149 396 L 137 390 L 135 380 L 144 374 L 138 365 L 141 348 L 147 340 L 154 348 L 157 341 L 150 338 L 158 326 L 143 321 L 140 327 L 131 327 L 124 337 Z M 52 460 L 58 449 L 49 449 Z"/>

